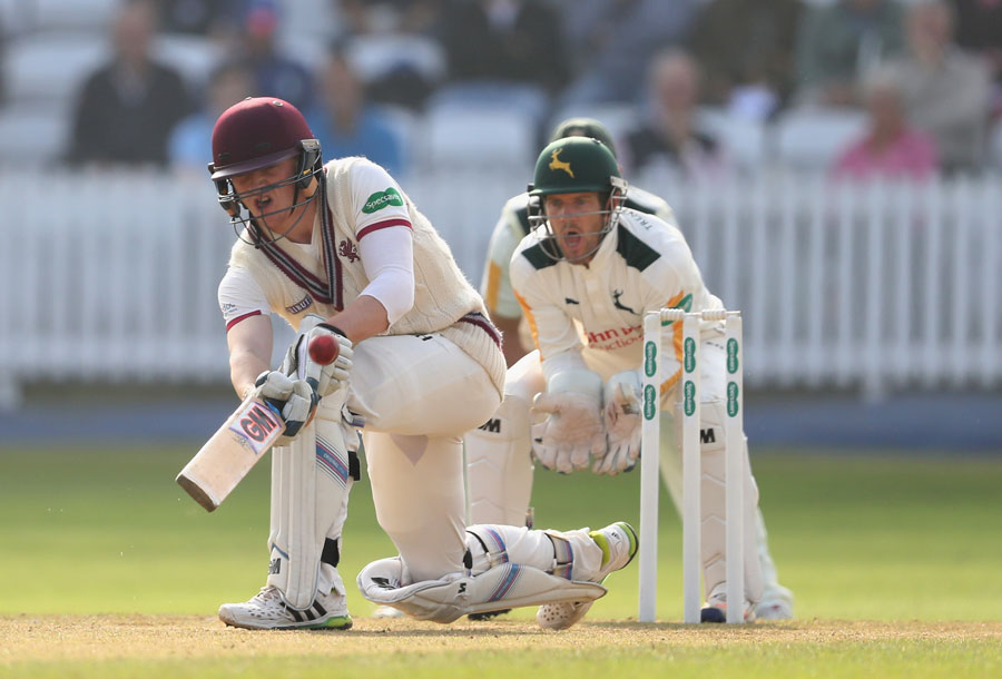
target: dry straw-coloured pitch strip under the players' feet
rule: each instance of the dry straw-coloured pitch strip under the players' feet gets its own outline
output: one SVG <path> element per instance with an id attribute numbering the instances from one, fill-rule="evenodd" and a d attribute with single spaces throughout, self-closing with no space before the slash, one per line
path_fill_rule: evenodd
<path id="1" fill-rule="evenodd" d="M 6 616 L 0 617 L 0 668 L 31 661 L 156 660 L 167 658 L 283 657 L 323 653 L 436 653 L 615 647 L 700 649 L 707 646 L 816 648 L 861 642 L 999 641 L 1002 622 L 872 622 L 796 620 L 749 626 L 684 626 L 662 622 L 586 621 L 562 632 L 524 620 L 450 626 L 361 618 L 347 632 L 255 632 L 191 616 Z"/>

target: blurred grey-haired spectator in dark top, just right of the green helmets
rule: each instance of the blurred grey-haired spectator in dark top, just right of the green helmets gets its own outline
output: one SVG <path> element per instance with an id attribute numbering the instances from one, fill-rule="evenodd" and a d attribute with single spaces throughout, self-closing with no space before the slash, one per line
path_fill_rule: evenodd
<path id="1" fill-rule="evenodd" d="M 723 149 L 699 128 L 699 69 L 679 50 L 655 58 L 648 81 L 649 114 L 626 134 L 622 164 L 631 171 L 658 165 L 689 177 L 714 177 L 727 170 Z"/>

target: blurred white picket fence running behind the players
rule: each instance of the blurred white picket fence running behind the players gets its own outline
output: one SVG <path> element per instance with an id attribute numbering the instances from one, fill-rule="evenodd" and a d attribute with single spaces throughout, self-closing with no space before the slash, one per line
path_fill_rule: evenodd
<path id="1" fill-rule="evenodd" d="M 484 166 L 401 184 L 477 284 L 524 181 Z M 744 312 L 750 386 L 1002 383 L 999 178 L 638 184 L 669 199 L 710 289 Z M 234 236 L 206 178 L 4 170 L 0 200 L 0 403 L 38 380 L 225 381 L 215 291 Z"/>

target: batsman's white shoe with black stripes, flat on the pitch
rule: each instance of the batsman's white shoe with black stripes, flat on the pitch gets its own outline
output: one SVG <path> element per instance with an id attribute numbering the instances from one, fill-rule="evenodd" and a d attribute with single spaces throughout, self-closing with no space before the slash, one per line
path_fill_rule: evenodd
<path id="1" fill-rule="evenodd" d="M 317 592 L 305 609 L 291 607 L 277 587 L 266 585 L 245 603 L 224 603 L 219 619 L 232 627 L 248 630 L 335 629 L 352 627 L 344 594 Z"/>

